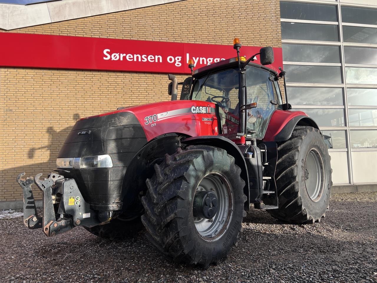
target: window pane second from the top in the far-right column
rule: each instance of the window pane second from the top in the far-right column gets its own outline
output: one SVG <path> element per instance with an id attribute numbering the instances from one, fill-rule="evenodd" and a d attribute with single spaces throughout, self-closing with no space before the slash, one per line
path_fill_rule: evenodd
<path id="1" fill-rule="evenodd" d="M 377 28 L 343 26 L 343 41 L 377 44 Z"/>

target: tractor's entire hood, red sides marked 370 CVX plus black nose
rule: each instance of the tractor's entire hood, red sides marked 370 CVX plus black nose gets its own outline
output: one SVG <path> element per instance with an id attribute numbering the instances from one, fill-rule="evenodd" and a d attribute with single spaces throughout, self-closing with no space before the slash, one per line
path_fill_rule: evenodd
<path id="1" fill-rule="evenodd" d="M 106 210 L 122 201 L 124 176 L 132 158 L 150 140 L 168 133 L 218 135 L 215 104 L 177 100 L 132 106 L 83 118 L 74 125 L 58 158 L 109 155 L 108 168 L 58 168 L 74 178 L 86 202 Z M 101 206 L 104 208 L 102 209 Z"/>

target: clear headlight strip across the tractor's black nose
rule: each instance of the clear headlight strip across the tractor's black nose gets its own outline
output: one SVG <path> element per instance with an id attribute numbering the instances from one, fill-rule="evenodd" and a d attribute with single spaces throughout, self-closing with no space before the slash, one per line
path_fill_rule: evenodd
<path id="1" fill-rule="evenodd" d="M 57 168 L 112 168 L 113 161 L 110 155 L 95 155 L 88 157 L 58 158 Z"/>

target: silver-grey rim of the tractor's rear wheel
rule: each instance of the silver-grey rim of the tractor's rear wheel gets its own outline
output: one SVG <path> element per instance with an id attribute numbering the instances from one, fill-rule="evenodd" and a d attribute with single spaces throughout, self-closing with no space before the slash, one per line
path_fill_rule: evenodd
<path id="1" fill-rule="evenodd" d="M 323 194 L 323 160 L 319 151 L 312 148 L 305 160 L 305 186 L 309 197 L 313 201 L 319 201 Z"/>

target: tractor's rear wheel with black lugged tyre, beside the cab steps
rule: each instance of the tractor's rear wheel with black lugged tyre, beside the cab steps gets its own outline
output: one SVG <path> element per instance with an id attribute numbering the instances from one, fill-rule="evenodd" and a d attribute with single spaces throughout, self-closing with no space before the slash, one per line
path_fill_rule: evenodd
<path id="1" fill-rule="evenodd" d="M 318 129 L 296 126 L 277 145 L 276 187 L 279 209 L 273 217 L 292 223 L 314 223 L 325 217 L 331 195 L 330 156 Z"/>

